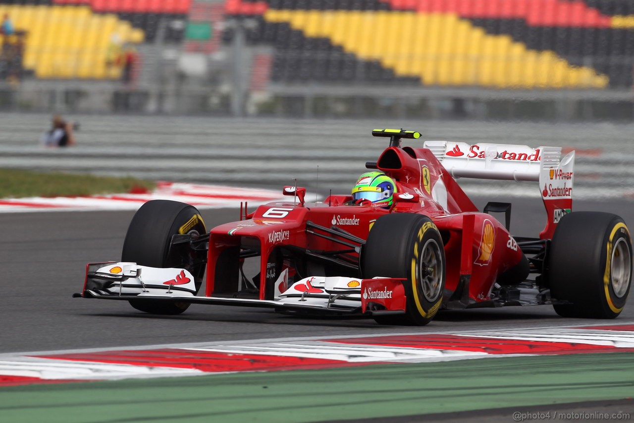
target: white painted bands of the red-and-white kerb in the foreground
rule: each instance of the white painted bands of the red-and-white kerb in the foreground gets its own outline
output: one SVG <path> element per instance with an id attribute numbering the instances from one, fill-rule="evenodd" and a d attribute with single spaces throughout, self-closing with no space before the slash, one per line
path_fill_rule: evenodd
<path id="1" fill-rule="evenodd" d="M 612 325 L 619 326 L 619 325 Z M 454 335 L 460 337 L 482 338 L 483 340 L 519 340 L 527 344 L 531 342 L 564 342 L 570 344 L 583 344 L 588 346 L 611 346 L 614 350 L 620 348 L 634 348 L 634 331 L 610 331 L 593 330 L 588 326 L 579 328 L 515 328 L 508 330 L 490 331 L 475 330 L 461 333 L 409 333 L 398 335 L 396 333 L 383 333 L 380 335 L 346 335 L 340 337 L 310 337 L 304 339 L 266 339 L 244 340 L 236 342 L 207 342 L 196 344 L 169 344 L 162 346 L 131 347 L 117 349 L 89 349 L 58 352 L 32 353 L 30 354 L 1 354 L 0 355 L 0 379 L 6 376 L 37 377 L 46 380 L 112 380 L 112 379 L 138 379 L 148 377 L 182 377 L 209 374 L 197 368 L 178 368 L 169 366 L 148 366 L 131 364 L 110 364 L 99 361 L 69 361 L 55 358 L 60 354 L 91 354 L 95 352 L 112 352 L 116 357 L 117 352 L 122 351 L 155 351 L 157 349 L 172 349 L 176 351 L 199 351 L 201 353 L 226 354 L 227 358 L 235 354 L 249 354 L 258 356 L 275 356 L 288 358 L 310 358 L 330 360 L 333 365 L 338 363 L 428 363 L 436 361 L 453 361 L 458 359 L 475 359 L 486 357 L 531 356 L 527 353 L 491 354 L 482 351 L 465 351 L 451 346 L 444 348 L 420 348 L 380 346 L 363 343 L 337 343 L 329 340 L 346 340 L 351 338 L 380 338 L 385 336 L 434 337 Z M 462 347 L 465 345 L 463 344 Z M 595 350 L 596 352 L 605 350 Z M 571 352 L 574 352 L 571 351 Z M 48 358 L 41 358 L 46 356 Z M 236 357 L 238 358 L 238 357 Z M 97 358 L 96 358 L 97 359 Z M 283 366 L 283 361 L 280 366 Z M 270 368 L 268 370 L 275 370 Z M 249 370 L 244 370 L 249 371 Z M 214 373 L 228 373 L 226 371 Z"/>

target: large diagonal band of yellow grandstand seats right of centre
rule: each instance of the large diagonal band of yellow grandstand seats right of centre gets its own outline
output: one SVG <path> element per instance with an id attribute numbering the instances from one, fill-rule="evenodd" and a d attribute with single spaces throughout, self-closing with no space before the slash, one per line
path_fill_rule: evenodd
<path id="1" fill-rule="evenodd" d="M 264 18 L 288 22 L 308 37 L 328 37 L 358 58 L 378 60 L 396 76 L 418 77 L 425 85 L 566 88 L 607 84 L 607 77 L 592 69 L 575 67 L 552 51 L 529 50 L 508 35 L 487 34 L 452 13 L 268 10 Z M 625 25 L 626 19 L 630 17 L 614 22 Z M 103 42 L 100 38 L 98 45 Z"/>

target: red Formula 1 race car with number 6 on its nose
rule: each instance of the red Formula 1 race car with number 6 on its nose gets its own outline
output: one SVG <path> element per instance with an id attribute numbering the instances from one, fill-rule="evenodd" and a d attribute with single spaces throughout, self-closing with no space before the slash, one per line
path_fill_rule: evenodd
<path id="1" fill-rule="evenodd" d="M 87 265 L 75 297 L 128 300 L 157 314 L 224 304 L 403 325 L 425 325 L 439 309 L 501 305 L 552 304 L 567 317 L 621 312 L 630 234 L 616 215 L 571 213 L 574 152 L 561 158 L 555 147 L 444 141 L 401 147 L 420 133 L 372 134 L 390 138 L 378 161 L 366 163 L 394 181 L 390 205 L 350 195 L 307 203 L 306 189 L 284 187 L 289 201 L 241 211 L 239 221 L 207 231 L 193 206 L 150 201 L 134 215 L 122 261 Z M 539 182 L 544 230 L 512 236 L 511 205 L 488 203 L 480 212 L 459 177 Z"/>

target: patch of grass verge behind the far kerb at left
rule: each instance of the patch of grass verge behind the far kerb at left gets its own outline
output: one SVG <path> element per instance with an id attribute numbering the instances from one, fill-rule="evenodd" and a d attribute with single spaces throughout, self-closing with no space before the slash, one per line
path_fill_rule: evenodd
<path id="1" fill-rule="evenodd" d="M 0 169 L 0 198 L 71 197 L 152 191 L 155 183 L 133 177 Z"/>

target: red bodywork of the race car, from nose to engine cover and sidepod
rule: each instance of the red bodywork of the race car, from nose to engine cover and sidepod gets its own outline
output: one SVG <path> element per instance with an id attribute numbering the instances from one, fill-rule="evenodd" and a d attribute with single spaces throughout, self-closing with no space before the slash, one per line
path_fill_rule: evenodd
<path id="1" fill-rule="evenodd" d="M 269 203 L 259 206 L 246 220 L 214 227 L 210 231 L 205 295 L 218 295 L 219 284 L 226 283 L 223 267 L 229 255 L 223 252 L 231 247 L 233 251 L 240 247 L 260 253 L 259 298 L 271 299 L 271 290 L 266 286 L 272 283 L 271 278 L 267 279 L 268 257 L 276 248 L 300 246 L 325 251 L 341 248 L 332 240 L 307 231 L 307 222 L 323 227 L 337 225 L 367 239 L 373 222 L 386 213 L 420 213 L 430 217 L 443 236 L 448 290 L 445 297 L 456 290 L 461 276 L 470 276 L 469 303 L 488 300 L 498 275 L 522 260 L 521 249 L 504 225 L 477 210 L 429 149 L 389 147 L 378 159 L 377 168 L 396 181 L 398 191 L 390 210 L 347 205 L 351 196 L 333 195 L 323 203 Z M 434 199 L 432 192 L 437 184 L 441 184 L 439 188 L 444 184 L 444 189 L 437 190 L 442 198 L 436 195 Z M 406 194 L 406 198 L 397 199 L 399 194 Z"/>

